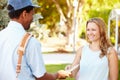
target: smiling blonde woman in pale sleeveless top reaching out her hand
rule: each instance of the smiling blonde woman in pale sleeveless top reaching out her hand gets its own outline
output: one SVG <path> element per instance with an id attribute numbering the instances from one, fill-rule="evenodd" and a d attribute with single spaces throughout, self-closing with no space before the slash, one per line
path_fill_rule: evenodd
<path id="1" fill-rule="evenodd" d="M 118 56 L 106 34 L 105 22 L 100 18 L 92 18 L 86 23 L 86 36 L 89 44 L 81 46 L 70 69 L 72 77 L 77 80 L 118 80 Z M 76 76 L 77 75 L 77 76 Z"/>

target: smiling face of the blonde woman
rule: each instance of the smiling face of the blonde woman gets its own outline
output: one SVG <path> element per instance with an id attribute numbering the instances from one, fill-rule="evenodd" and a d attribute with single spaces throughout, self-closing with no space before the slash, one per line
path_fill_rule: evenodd
<path id="1" fill-rule="evenodd" d="M 86 34 L 90 42 L 96 42 L 100 40 L 99 27 L 94 22 L 89 22 L 87 24 Z"/>

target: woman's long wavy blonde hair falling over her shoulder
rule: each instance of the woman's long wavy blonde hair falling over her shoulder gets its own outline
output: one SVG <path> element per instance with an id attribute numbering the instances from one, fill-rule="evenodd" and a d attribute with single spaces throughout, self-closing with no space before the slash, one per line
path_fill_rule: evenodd
<path id="1" fill-rule="evenodd" d="M 93 22 L 99 27 L 100 32 L 100 50 L 101 54 L 100 57 L 107 55 L 108 48 L 112 46 L 111 42 L 108 39 L 107 32 L 106 32 L 106 24 L 103 19 L 101 18 L 91 18 L 87 21 L 86 27 L 88 23 Z"/>

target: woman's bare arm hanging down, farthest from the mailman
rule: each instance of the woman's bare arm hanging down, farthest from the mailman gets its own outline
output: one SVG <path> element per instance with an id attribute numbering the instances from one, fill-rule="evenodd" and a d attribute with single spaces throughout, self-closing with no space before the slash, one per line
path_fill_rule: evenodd
<path id="1" fill-rule="evenodd" d="M 114 48 L 108 54 L 109 80 L 118 80 L 118 55 Z"/>

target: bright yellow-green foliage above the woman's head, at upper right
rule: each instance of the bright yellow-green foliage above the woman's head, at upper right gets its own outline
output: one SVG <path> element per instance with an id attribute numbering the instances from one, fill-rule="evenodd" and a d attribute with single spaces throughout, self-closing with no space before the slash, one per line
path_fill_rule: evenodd
<path id="1" fill-rule="evenodd" d="M 83 18 L 102 17 L 107 23 L 110 11 L 114 8 L 120 8 L 119 0 L 86 0 L 83 13 L 87 14 Z"/>

